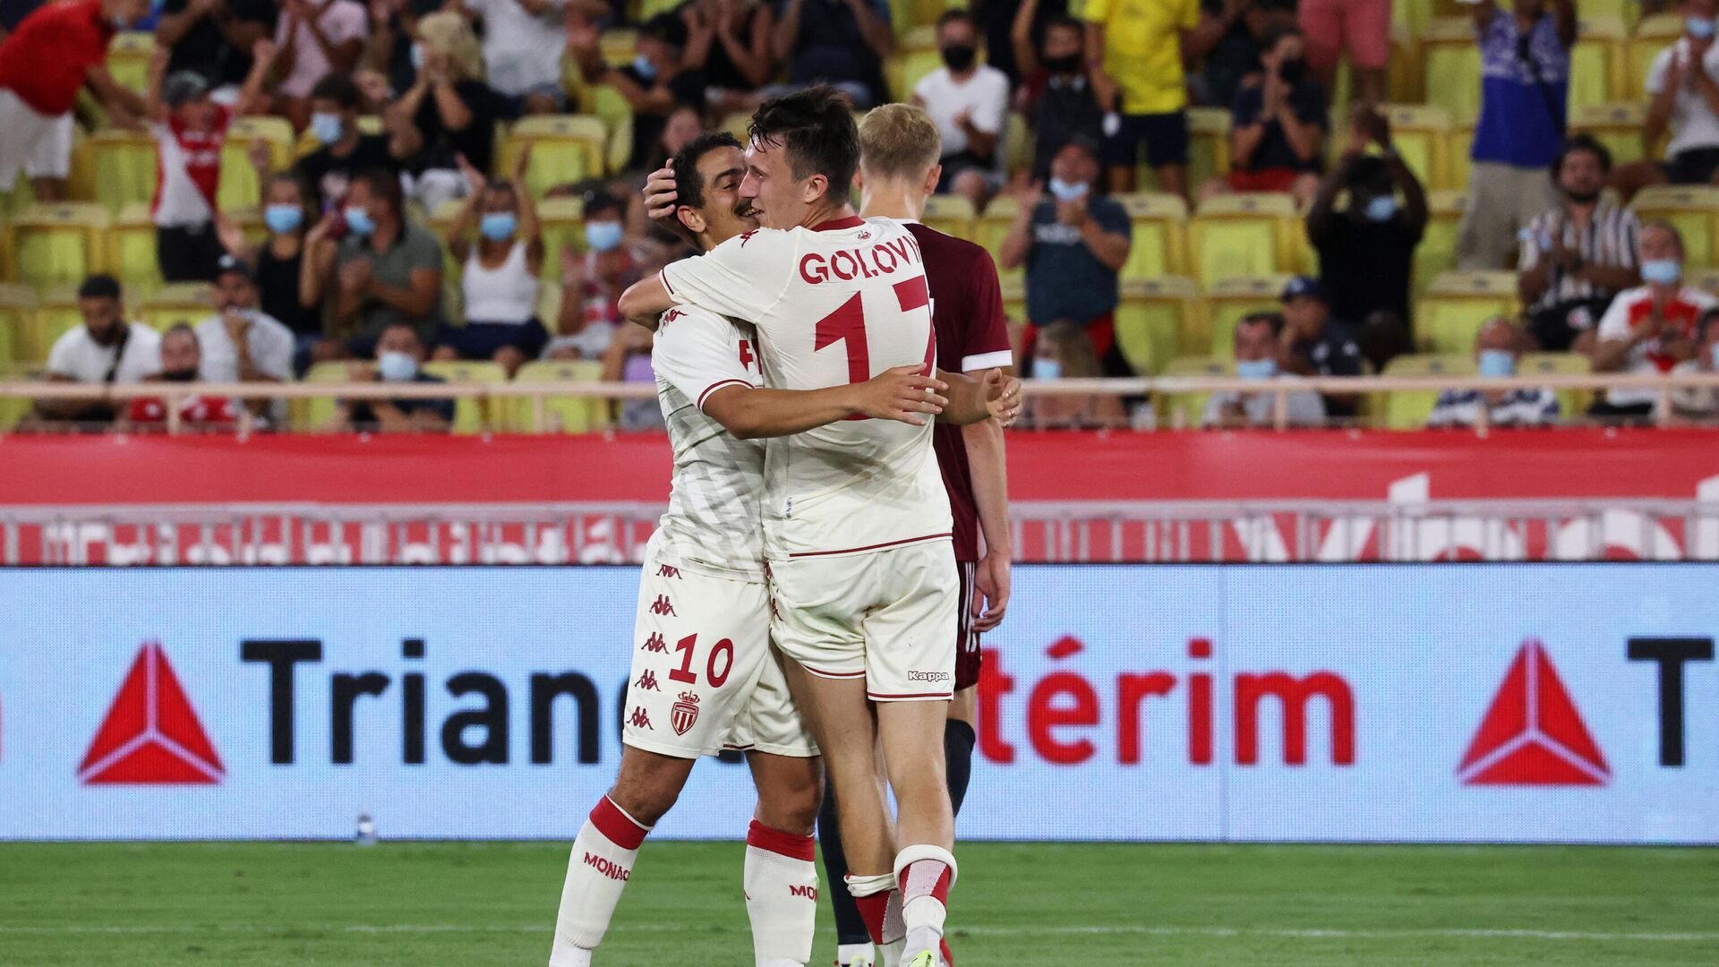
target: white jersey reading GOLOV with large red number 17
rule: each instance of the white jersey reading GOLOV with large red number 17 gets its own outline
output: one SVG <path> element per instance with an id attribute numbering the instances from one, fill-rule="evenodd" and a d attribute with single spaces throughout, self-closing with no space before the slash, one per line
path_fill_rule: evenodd
<path id="1" fill-rule="evenodd" d="M 865 382 L 937 365 L 920 243 L 890 219 L 760 229 L 662 270 L 677 303 L 751 322 L 779 389 Z M 772 439 L 765 554 L 858 554 L 947 540 L 949 496 L 932 422 L 846 420 Z"/>

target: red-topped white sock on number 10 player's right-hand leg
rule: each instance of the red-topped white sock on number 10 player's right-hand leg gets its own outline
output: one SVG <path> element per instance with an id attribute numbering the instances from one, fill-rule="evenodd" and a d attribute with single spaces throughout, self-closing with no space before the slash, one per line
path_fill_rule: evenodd
<path id="1" fill-rule="evenodd" d="M 818 926 L 818 864 L 811 836 L 746 831 L 746 915 L 756 967 L 804 967 Z"/>

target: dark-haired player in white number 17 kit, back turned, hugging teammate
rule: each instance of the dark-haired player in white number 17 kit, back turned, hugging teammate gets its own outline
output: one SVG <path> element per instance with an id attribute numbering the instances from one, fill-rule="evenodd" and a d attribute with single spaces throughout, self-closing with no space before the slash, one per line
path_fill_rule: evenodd
<path id="1" fill-rule="evenodd" d="M 621 311 L 691 305 L 751 322 L 772 387 L 839 387 L 915 361 L 930 373 L 918 241 L 854 215 L 858 162 L 853 114 L 832 88 L 765 102 L 741 182 L 765 229 L 638 282 Z M 763 521 L 772 631 L 842 804 L 849 893 L 865 910 L 899 886 L 904 964 L 933 967 L 956 879 L 942 735 L 959 583 L 932 427 L 847 420 L 770 440 Z"/>

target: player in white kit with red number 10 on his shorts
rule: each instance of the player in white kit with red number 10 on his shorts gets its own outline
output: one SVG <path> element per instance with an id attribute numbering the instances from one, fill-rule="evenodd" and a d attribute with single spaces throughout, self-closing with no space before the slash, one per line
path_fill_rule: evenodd
<path id="1" fill-rule="evenodd" d="M 676 217 L 701 248 L 755 229 L 737 194 L 739 143 L 707 134 L 677 157 Z M 662 315 L 652 353 L 674 447 L 669 513 L 652 537 L 639 583 L 624 752 L 615 786 L 574 841 L 552 967 L 591 962 L 650 828 L 674 805 L 700 755 L 744 748 L 758 786 L 746 838 L 744 893 L 760 967 L 811 957 L 817 912 L 813 817 L 822 764 L 768 640 L 763 583 L 763 444 L 854 416 L 925 425 L 945 399 L 918 366 L 815 392 L 762 389 L 749 325 L 708 310 Z M 959 380 L 949 416 L 1018 411 L 1016 387 L 995 403 Z"/>

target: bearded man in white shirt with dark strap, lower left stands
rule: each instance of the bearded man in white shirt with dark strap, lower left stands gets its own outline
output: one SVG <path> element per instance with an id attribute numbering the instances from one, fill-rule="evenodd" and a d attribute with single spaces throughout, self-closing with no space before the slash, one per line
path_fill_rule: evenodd
<path id="1" fill-rule="evenodd" d="M 162 368 L 162 337 L 148 325 L 125 322 L 119 280 L 91 275 L 77 287 L 77 310 L 84 323 L 70 329 L 48 351 L 50 382 L 132 384 Z M 108 401 L 38 399 L 38 420 L 62 423 L 110 423 Z"/>

